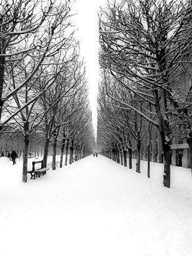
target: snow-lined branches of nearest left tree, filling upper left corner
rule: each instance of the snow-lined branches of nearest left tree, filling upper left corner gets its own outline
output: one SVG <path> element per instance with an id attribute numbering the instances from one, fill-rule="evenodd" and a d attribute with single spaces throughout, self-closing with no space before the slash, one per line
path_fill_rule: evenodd
<path id="1" fill-rule="evenodd" d="M 53 61 L 53 56 L 58 56 L 72 40 L 72 32 L 64 34 L 70 27 L 71 1 L 59 6 L 55 2 L 50 0 L 44 5 L 40 0 L 1 0 L 1 130 L 6 121 L 1 119 L 4 104 L 34 78 L 42 65 L 50 65 L 50 59 Z"/>

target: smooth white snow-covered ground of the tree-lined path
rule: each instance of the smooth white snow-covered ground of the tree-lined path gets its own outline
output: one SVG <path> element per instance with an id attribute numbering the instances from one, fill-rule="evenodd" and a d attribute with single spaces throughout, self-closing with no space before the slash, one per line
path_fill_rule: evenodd
<path id="1" fill-rule="evenodd" d="M 22 183 L 22 161 L 0 158 L 0 255 L 192 255 L 190 169 L 165 188 L 162 164 L 133 166 L 88 156 Z"/>

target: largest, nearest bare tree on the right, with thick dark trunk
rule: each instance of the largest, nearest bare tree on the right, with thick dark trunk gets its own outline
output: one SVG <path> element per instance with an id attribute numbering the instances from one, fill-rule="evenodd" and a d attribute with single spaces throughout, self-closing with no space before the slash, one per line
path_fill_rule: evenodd
<path id="1" fill-rule="evenodd" d="M 152 111 L 146 115 L 123 103 L 159 129 L 165 187 L 170 187 L 171 115 L 175 111 L 178 115 L 181 105 L 175 80 L 180 78 L 181 63 L 191 53 L 191 31 L 190 2 L 108 1 L 100 15 L 101 65 L 122 87 L 151 104 Z M 150 114 L 156 119 L 150 119 Z M 188 137 L 190 131 L 191 127 Z"/>

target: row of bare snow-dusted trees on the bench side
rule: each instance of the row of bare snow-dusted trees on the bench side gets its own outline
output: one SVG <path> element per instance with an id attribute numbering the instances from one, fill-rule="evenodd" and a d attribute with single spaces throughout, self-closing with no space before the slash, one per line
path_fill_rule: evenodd
<path id="1" fill-rule="evenodd" d="M 27 181 L 31 136 L 66 156 L 92 151 L 94 135 L 84 63 L 71 24 L 72 1 L 0 1 L 0 134 L 24 141 L 23 181 Z M 34 142 L 36 143 L 36 142 Z M 38 141 L 37 141 L 38 143 Z M 84 152 L 84 153 L 83 153 Z M 82 155 L 84 154 L 84 155 Z"/>

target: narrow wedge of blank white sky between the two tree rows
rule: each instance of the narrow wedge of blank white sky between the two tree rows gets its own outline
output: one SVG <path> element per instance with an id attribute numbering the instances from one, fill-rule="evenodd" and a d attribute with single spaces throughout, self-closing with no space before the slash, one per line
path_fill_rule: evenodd
<path id="1" fill-rule="evenodd" d="M 85 57 L 90 92 L 91 110 L 95 138 L 97 132 L 98 93 L 98 8 L 105 0 L 76 0 L 74 9 L 78 36 L 81 41 L 81 55 Z"/>

